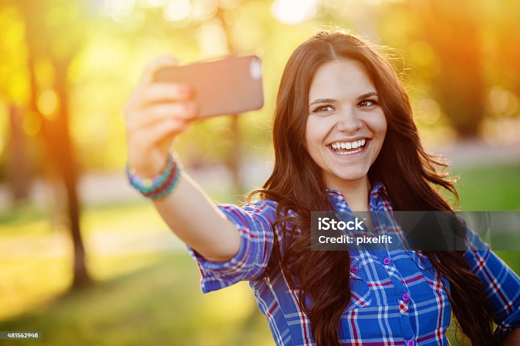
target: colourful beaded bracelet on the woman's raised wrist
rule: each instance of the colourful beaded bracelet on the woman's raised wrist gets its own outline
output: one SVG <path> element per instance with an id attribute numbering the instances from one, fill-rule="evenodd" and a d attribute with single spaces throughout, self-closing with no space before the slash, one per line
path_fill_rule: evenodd
<path id="1" fill-rule="evenodd" d="M 126 165 L 126 176 L 130 184 L 143 196 L 160 199 L 172 192 L 180 177 L 180 167 L 173 155 L 168 155 L 168 164 L 161 175 L 143 179 L 136 175 L 135 169 Z"/>

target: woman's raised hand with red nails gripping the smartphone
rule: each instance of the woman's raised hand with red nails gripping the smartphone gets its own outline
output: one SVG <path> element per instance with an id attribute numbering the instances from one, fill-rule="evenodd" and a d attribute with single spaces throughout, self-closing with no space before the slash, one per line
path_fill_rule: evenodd
<path id="1" fill-rule="evenodd" d="M 157 83 L 157 71 L 176 66 L 177 59 L 161 56 L 150 62 L 125 104 L 128 164 L 141 178 L 161 174 L 175 138 L 197 117 L 193 90 L 186 84 Z"/>

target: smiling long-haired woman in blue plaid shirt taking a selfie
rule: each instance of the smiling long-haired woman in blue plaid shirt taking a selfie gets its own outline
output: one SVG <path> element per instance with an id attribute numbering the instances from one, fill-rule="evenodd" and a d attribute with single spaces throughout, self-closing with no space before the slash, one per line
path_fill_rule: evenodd
<path id="1" fill-rule="evenodd" d="M 176 63 L 152 62 L 126 104 L 129 176 L 188 245 L 204 292 L 249 281 L 278 345 L 446 345 L 451 312 L 475 346 L 520 344 L 520 279 L 471 231 L 466 251 L 310 250 L 311 211 L 451 210 L 434 188 L 457 196 L 370 43 L 330 30 L 294 51 L 275 167 L 243 207 L 215 206 L 168 154 L 197 115 L 186 85 L 152 83 Z"/>

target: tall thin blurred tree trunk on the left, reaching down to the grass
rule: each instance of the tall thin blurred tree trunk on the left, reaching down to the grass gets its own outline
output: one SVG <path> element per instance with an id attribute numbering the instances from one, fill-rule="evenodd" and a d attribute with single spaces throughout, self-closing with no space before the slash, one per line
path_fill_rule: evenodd
<path id="1" fill-rule="evenodd" d="M 44 22 L 46 11 L 52 10 L 53 7 L 64 6 L 65 4 L 67 2 L 31 0 L 18 3 L 27 29 L 28 63 L 31 78 L 30 108 L 31 111 L 40 114 L 42 119 L 41 135 L 45 144 L 46 164 L 50 165 L 50 170 L 58 173 L 59 179 L 65 187 L 68 227 L 71 232 L 74 249 L 74 278 L 72 287 L 79 288 L 88 285 L 92 280 L 86 268 L 85 249 L 81 238 L 80 206 L 77 196 L 78 172 L 68 123 L 69 85 L 67 71 L 75 51 L 70 49 L 74 45 L 67 45 L 67 42 L 63 41 L 67 38 L 71 39 L 71 37 L 63 36 L 68 30 L 65 25 L 49 28 Z M 67 47 L 68 49 L 61 49 L 58 55 L 56 51 L 53 51 L 51 44 L 61 44 L 61 47 Z M 54 90 L 58 96 L 58 107 L 55 110 L 57 113 L 49 118 L 42 116 L 37 108 L 36 100 L 40 90 L 36 82 L 36 58 L 50 59 L 55 71 Z"/>

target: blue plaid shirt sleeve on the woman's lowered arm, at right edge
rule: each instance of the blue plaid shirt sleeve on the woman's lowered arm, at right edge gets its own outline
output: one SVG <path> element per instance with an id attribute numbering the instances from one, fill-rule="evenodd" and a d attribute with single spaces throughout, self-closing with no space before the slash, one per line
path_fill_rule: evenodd
<path id="1" fill-rule="evenodd" d="M 470 270 L 487 287 L 487 299 L 498 325 L 495 335 L 502 339 L 509 331 L 520 327 L 520 278 L 470 228 L 467 228 L 465 258 L 470 263 Z"/>

